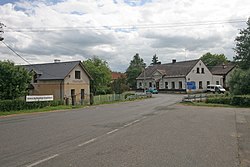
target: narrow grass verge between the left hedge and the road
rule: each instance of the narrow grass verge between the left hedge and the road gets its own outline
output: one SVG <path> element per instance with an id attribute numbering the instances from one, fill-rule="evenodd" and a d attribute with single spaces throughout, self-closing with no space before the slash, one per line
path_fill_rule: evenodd
<path id="1" fill-rule="evenodd" d="M 48 107 L 32 109 L 32 110 L 20 110 L 20 111 L 9 111 L 9 112 L 0 111 L 0 116 L 24 114 L 24 113 L 36 113 L 36 112 L 49 112 L 49 111 L 56 111 L 56 110 L 69 110 L 69 109 L 76 109 L 76 108 L 83 108 L 83 107 L 84 106 L 82 105 L 77 105 L 77 106 L 60 105 L 60 106 L 48 106 Z"/>

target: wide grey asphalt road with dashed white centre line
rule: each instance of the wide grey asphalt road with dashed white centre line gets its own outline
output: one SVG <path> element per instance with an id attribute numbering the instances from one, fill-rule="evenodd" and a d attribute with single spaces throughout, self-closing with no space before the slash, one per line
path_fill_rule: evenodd
<path id="1" fill-rule="evenodd" d="M 0 118 L 0 166 L 239 166 L 235 109 L 181 98 Z"/>

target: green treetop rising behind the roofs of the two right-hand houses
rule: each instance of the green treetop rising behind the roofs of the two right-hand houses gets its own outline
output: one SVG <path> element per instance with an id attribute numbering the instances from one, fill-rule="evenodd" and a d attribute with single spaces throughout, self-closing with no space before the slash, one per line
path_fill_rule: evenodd
<path id="1" fill-rule="evenodd" d="M 216 65 L 221 65 L 223 63 L 227 63 L 228 60 L 224 54 L 211 54 L 210 52 L 202 55 L 200 58 L 206 66 L 211 69 Z"/>

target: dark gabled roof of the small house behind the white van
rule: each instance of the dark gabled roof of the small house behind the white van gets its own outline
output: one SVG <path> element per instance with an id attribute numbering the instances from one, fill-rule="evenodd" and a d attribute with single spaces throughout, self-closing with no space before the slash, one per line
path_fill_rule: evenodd
<path id="1" fill-rule="evenodd" d="M 218 66 L 214 66 L 210 69 L 213 75 L 227 75 L 231 70 L 235 68 L 234 63 L 222 64 Z"/>

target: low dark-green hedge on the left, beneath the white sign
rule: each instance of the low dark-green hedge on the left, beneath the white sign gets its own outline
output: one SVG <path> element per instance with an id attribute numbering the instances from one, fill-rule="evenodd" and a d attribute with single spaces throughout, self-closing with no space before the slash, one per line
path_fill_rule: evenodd
<path id="1" fill-rule="evenodd" d="M 62 101 L 26 102 L 25 100 L 2 100 L 0 101 L 0 112 L 30 110 L 62 104 Z"/>

